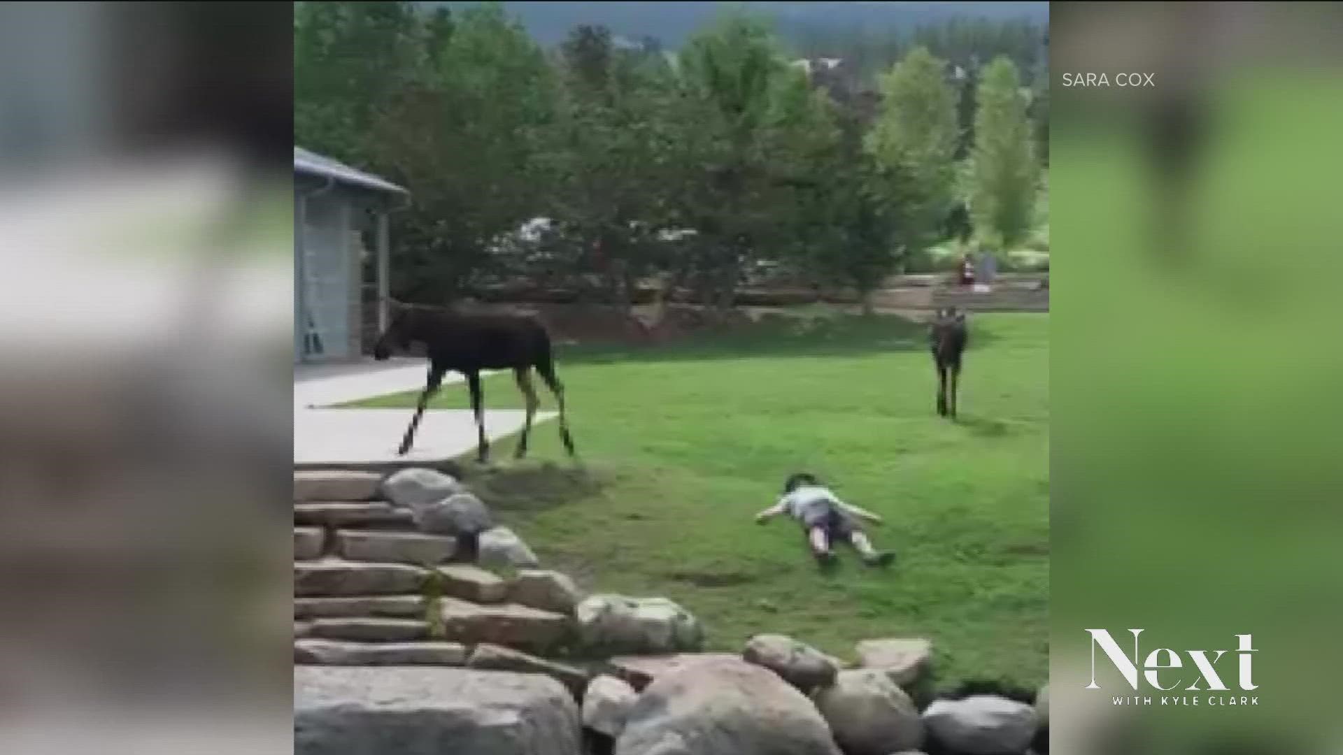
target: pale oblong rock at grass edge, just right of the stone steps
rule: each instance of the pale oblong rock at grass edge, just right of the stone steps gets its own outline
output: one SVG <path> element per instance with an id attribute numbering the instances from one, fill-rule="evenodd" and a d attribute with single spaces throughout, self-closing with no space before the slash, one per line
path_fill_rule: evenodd
<path id="1" fill-rule="evenodd" d="M 583 645 L 606 653 L 677 653 L 704 645 L 700 622 L 666 598 L 591 595 L 575 618 Z"/>

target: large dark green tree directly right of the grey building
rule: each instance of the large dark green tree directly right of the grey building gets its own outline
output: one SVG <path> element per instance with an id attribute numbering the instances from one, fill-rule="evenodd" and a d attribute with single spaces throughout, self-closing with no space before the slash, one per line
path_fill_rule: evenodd
<path id="1" fill-rule="evenodd" d="M 543 51 L 498 4 L 467 8 L 450 31 L 422 30 L 423 44 L 435 64 L 388 97 L 368 137 L 369 164 L 411 189 L 398 215 L 393 292 L 442 302 L 500 274 L 500 239 L 540 215 L 537 157 L 555 83 Z"/>

